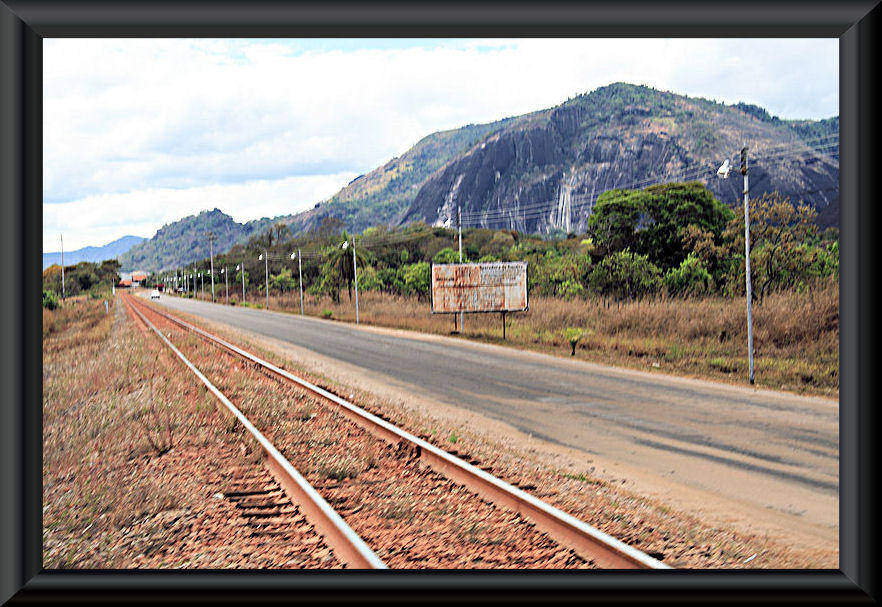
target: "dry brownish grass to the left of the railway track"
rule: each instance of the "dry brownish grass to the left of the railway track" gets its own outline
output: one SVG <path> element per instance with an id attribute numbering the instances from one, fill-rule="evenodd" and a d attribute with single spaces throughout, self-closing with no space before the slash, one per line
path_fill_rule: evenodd
<path id="1" fill-rule="evenodd" d="M 204 392 L 167 372 L 170 360 L 121 308 L 105 314 L 103 301 L 82 297 L 43 313 L 46 568 L 131 566 L 139 553 L 161 549 L 166 532 L 157 515 L 182 499 L 139 470 L 218 431 Z M 135 527 L 139 533 L 127 533 Z"/>

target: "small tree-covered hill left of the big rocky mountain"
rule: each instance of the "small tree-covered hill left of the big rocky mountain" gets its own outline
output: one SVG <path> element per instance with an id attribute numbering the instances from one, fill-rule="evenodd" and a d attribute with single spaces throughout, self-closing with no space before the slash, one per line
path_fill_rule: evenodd
<path id="1" fill-rule="evenodd" d="M 220 209 L 202 211 L 160 228 L 150 240 L 120 256 L 122 270 L 156 271 L 205 259 L 209 255 L 208 234 L 214 234 L 214 252 L 222 253 L 262 232 L 275 219 L 239 223 Z"/>

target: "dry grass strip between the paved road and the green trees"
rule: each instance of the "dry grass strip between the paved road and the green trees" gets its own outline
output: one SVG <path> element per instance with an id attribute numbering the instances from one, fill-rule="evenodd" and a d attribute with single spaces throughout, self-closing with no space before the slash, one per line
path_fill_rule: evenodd
<path id="1" fill-rule="evenodd" d="M 264 299 L 249 302 L 263 305 Z M 450 315 L 432 315 L 416 298 L 378 292 L 359 295 L 360 321 L 447 335 Z M 299 313 L 297 293 L 271 296 L 274 310 Z M 306 314 L 330 311 L 355 320 L 345 293 L 339 303 L 304 296 Z M 754 305 L 754 349 L 759 386 L 838 397 L 839 285 L 805 293 L 775 293 Z M 466 315 L 464 337 L 569 356 L 567 329 L 583 331 L 576 356 L 649 371 L 747 383 L 747 327 L 742 298 L 657 299 L 610 303 L 534 298 L 530 310 L 508 315 L 506 341 L 498 314 Z"/>

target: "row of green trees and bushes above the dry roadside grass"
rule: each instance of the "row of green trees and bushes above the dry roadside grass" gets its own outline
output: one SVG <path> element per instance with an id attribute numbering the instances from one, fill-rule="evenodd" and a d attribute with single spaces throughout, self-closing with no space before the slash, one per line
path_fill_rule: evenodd
<path id="1" fill-rule="evenodd" d="M 751 201 L 750 215 L 756 299 L 838 277 L 838 231 L 821 231 L 812 207 L 770 193 Z M 297 259 L 290 254 L 299 249 L 306 292 L 334 301 L 347 292 L 351 298 L 352 240 L 334 217 L 299 236 L 276 224 L 216 256 L 215 280 L 223 288 L 220 269 L 225 267 L 235 301 L 243 273 L 248 292 L 259 289 L 262 294 L 264 261 L 259 255 L 266 250 L 270 292 L 297 290 Z M 344 242 L 350 246 L 344 248 Z M 422 223 L 368 228 L 355 236 L 355 257 L 360 290 L 427 299 L 431 264 L 459 261 L 457 233 Z M 744 293 L 743 216 L 697 182 L 612 190 L 598 198 L 585 234 L 543 239 L 509 230 L 464 229 L 463 260 L 527 261 L 530 292 L 565 299 L 736 296 Z M 187 266 L 186 273 L 208 268 L 204 259 Z M 174 272 L 152 278 L 161 282 L 169 275 Z"/>

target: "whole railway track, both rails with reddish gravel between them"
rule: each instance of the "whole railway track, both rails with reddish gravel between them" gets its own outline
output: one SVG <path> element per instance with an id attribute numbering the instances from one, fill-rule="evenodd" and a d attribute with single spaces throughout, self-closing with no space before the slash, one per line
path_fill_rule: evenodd
<path id="1" fill-rule="evenodd" d="M 642 551 L 336 394 L 146 302 L 129 295 L 124 298 L 145 324 L 214 394 L 219 408 L 236 417 L 247 429 L 260 445 L 267 467 L 290 499 L 300 505 L 327 544 L 351 567 L 386 566 L 369 547 L 372 545 L 377 550 L 380 550 L 377 546 L 382 546 L 386 560 L 395 561 L 393 566 L 405 567 L 463 566 L 476 559 L 485 565 L 501 567 L 669 568 Z M 234 378 L 251 373 L 273 382 L 272 387 L 265 387 L 267 391 L 278 392 L 280 385 L 287 386 L 285 390 L 289 394 L 285 398 L 292 399 L 292 403 L 297 402 L 298 398 L 302 400 L 303 395 L 307 394 L 330 407 L 316 408 L 305 416 L 294 413 L 295 417 L 300 417 L 293 421 L 288 411 L 293 409 L 293 405 L 282 407 L 274 400 L 273 406 L 263 409 L 255 407 L 254 415 L 257 417 L 252 417 L 264 419 L 265 429 L 271 427 L 278 432 L 275 440 L 279 448 L 276 448 L 147 316 L 152 316 L 159 324 L 179 335 L 181 343 L 185 344 L 182 348 L 192 350 L 195 356 L 201 357 L 205 361 L 204 364 L 200 363 L 203 369 L 210 367 L 218 382 L 228 384 L 231 392 L 241 388 Z M 220 348 L 229 356 L 219 358 L 216 354 L 211 356 L 205 350 L 200 350 L 206 345 L 215 352 Z M 256 393 L 252 390 L 249 394 L 253 396 Z M 267 394 L 269 392 L 260 398 L 266 400 Z M 246 408 L 249 406 L 247 403 L 248 398 L 243 398 L 240 407 Z M 287 418 L 282 419 L 285 416 Z M 352 424 L 357 426 L 358 431 L 351 428 Z M 288 431 L 279 430 L 282 427 L 287 427 Z M 317 432 L 318 436 L 325 438 L 318 439 L 318 442 L 316 439 L 304 439 L 307 431 Z M 346 440 L 338 440 L 343 436 Z M 378 447 L 377 443 L 383 447 Z M 282 451 L 292 459 L 305 462 L 307 466 L 310 466 L 309 462 L 315 459 L 317 453 L 325 451 L 344 460 L 354 457 L 353 453 L 369 453 L 369 456 L 360 457 L 367 457 L 370 465 L 362 466 L 358 478 L 346 483 L 326 482 L 326 479 L 319 478 L 320 475 L 313 475 L 317 484 L 323 483 L 317 490 Z M 413 465 L 415 461 L 427 466 L 418 470 Z M 332 470 L 331 476 L 335 474 L 339 476 Z M 319 490 L 328 497 L 328 501 Z M 398 501 L 392 499 L 399 492 L 403 497 Z M 478 499 L 475 494 L 483 499 Z M 340 509 L 342 516 L 331 507 L 329 501 Z M 468 504 L 465 510 L 461 510 L 462 504 Z M 411 506 L 413 510 L 409 510 Z M 450 528 L 455 527 L 456 523 L 450 519 L 456 516 L 449 516 L 448 510 L 455 510 L 461 516 L 472 516 L 471 527 L 452 533 Z M 398 526 L 386 528 L 378 524 L 376 516 L 371 514 L 378 511 L 384 512 L 387 520 L 394 520 Z M 358 528 L 365 539 L 344 518 Z M 438 528 L 441 530 L 437 531 Z M 390 533 L 394 537 L 390 538 Z M 454 553 L 458 544 L 463 544 L 473 561 L 457 560 Z"/>

